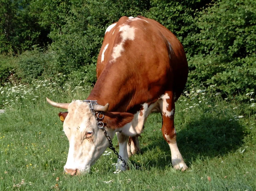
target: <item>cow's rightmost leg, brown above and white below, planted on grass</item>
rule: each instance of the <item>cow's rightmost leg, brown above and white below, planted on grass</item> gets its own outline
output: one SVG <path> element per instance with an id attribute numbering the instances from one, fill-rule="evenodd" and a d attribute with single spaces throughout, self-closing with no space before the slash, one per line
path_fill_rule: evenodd
<path id="1" fill-rule="evenodd" d="M 160 109 L 162 111 L 162 134 L 171 149 L 171 163 L 174 169 L 187 169 L 176 142 L 176 131 L 174 127 L 175 103 L 172 91 L 166 92 L 161 97 Z"/>

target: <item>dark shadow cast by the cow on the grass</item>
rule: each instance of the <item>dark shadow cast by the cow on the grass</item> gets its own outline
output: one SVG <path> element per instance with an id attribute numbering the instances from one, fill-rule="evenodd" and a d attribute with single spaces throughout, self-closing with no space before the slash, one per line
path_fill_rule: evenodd
<path id="1" fill-rule="evenodd" d="M 230 118 L 215 119 L 201 117 L 192 121 L 177 132 L 177 144 L 186 164 L 193 163 L 198 156 L 214 158 L 223 156 L 228 152 L 235 152 L 242 144 L 244 132 L 238 121 L 229 121 Z M 159 139 L 156 134 L 152 137 L 152 143 L 142 147 L 142 154 L 158 149 L 157 157 L 145 157 L 148 169 L 158 167 L 167 168 L 171 164 L 170 148 L 164 138 Z M 148 160 L 148 161 L 147 161 Z M 134 163 L 140 166 L 139 163 Z"/>

